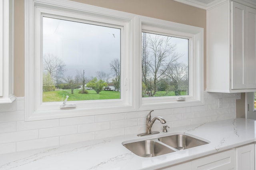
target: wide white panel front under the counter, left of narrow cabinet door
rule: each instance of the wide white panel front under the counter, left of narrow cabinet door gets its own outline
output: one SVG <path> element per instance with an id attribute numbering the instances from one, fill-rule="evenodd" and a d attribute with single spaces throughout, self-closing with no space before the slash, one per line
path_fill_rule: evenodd
<path id="1" fill-rule="evenodd" d="M 235 169 L 234 149 L 206 156 L 192 161 L 192 170 L 232 170 Z M 241 169 L 245 170 L 245 169 Z"/>

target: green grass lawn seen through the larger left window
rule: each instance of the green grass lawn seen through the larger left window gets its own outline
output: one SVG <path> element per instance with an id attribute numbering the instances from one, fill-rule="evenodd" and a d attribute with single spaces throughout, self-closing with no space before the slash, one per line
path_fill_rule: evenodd
<path id="1" fill-rule="evenodd" d="M 47 91 L 43 93 L 43 102 L 64 101 L 67 95 L 68 101 L 120 99 L 120 91 L 101 91 L 99 94 L 94 90 L 87 90 L 88 94 L 80 94 L 79 91 L 74 89 L 74 94 L 71 94 L 71 89 Z"/>

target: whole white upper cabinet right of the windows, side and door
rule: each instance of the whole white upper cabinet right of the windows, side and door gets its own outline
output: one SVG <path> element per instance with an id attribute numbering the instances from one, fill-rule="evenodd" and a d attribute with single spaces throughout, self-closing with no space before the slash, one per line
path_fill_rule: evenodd
<path id="1" fill-rule="evenodd" d="M 208 9 L 206 51 L 206 91 L 256 91 L 256 10 L 229 0 Z"/>

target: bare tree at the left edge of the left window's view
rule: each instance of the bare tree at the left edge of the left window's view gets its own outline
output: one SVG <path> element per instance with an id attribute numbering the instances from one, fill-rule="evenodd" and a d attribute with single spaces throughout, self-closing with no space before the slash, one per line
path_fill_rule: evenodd
<path id="1" fill-rule="evenodd" d="M 43 71 L 48 71 L 52 79 L 58 84 L 65 71 L 65 63 L 59 57 L 53 54 L 44 54 L 43 56 Z"/>

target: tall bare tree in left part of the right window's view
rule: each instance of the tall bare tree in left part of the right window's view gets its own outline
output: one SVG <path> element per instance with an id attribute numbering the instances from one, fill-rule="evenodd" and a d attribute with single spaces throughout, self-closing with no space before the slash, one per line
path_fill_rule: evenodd
<path id="1" fill-rule="evenodd" d="M 182 55 L 176 52 L 176 44 L 170 42 L 171 37 L 161 36 L 157 34 L 148 34 L 145 37 L 146 53 L 144 62 L 146 62 L 146 69 L 151 79 L 152 88 L 150 96 L 156 94 L 156 85 L 164 77 L 164 73 L 172 63 L 177 61 Z"/>

